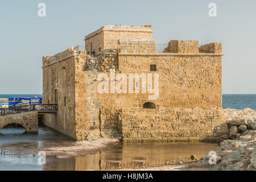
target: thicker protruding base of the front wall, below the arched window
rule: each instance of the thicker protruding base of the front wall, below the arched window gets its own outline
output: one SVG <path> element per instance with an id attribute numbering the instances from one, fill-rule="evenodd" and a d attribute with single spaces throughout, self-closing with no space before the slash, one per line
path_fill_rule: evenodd
<path id="1" fill-rule="evenodd" d="M 227 134 L 221 108 L 123 109 L 124 142 L 154 140 L 217 140 Z"/>

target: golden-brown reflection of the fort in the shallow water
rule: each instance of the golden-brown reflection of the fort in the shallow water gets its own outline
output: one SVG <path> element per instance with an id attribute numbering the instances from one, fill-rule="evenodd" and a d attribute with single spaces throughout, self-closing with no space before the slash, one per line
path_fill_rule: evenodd
<path id="1" fill-rule="evenodd" d="M 105 151 L 76 158 L 53 159 L 47 162 L 45 170 L 109 170 L 139 169 L 161 164 L 175 164 L 188 161 L 192 154 L 199 158 L 209 151 L 218 151 L 214 143 L 162 143 L 125 144 L 112 146 Z"/>

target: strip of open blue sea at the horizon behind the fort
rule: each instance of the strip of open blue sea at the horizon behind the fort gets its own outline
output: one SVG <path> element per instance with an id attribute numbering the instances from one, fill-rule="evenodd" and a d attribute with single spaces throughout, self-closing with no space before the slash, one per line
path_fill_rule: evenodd
<path id="1" fill-rule="evenodd" d="M 43 97 L 42 94 L 0 94 L 0 98 L 14 97 Z M 223 94 L 222 95 L 223 109 L 245 109 L 250 108 L 256 110 L 256 94 Z"/>

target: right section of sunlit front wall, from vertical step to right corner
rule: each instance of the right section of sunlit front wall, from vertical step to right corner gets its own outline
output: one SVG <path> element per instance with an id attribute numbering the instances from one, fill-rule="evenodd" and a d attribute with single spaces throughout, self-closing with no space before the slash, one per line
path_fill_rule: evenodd
<path id="1" fill-rule="evenodd" d="M 150 64 L 159 73 L 159 98 L 136 95 L 122 107 L 124 140 L 214 140 L 228 133 L 221 109 L 221 54 L 119 54 L 122 73 L 150 73 Z M 156 109 L 143 109 L 148 101 Z"/>

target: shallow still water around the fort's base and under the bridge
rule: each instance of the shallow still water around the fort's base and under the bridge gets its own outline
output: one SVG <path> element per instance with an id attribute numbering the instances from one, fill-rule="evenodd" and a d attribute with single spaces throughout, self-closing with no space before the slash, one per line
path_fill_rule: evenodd
<path id="1" fill-rule="evenodd" d="M 3 129 L 0 134 L 0 149 L 3 146 L 23 146 L 34 144 L 43 146 L 47 142 L 71 141 L 67 137 L 39 127 L 38 134 L 22 134 L 23 129 Z M 13 133 L 13 134 L 10 134 Z M 38 164 L 38 155 L 20 155 L 19 152 L 1 151 L 0 170 L 102 170 L 134 169 L 154 165 L 187 161 L 191 155 L 199 158 L 209 151 L 218 151 L 220 146 L 209 142 L 166 142 L 128 143 L 110 146 L 104 151 L 68 159 L 47 158 L 46 165 Z"/>

